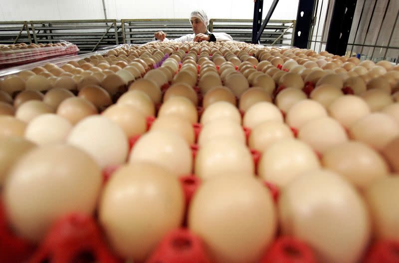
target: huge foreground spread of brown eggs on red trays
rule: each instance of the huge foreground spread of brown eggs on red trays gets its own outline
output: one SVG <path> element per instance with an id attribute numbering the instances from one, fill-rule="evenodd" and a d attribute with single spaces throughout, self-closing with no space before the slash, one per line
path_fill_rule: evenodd
<path id="1" fill-rule="evenodd" d="M 212 263 L 271 262 L 280 237 L 308 262 L 367 262 L 399 243 L 398 81 L 388 61 L 241 42 L 21 71 L 0 80 L 7 223 L 40 248 L 60 218 L 96 214 L 135 263 L 179 228 Z"/>

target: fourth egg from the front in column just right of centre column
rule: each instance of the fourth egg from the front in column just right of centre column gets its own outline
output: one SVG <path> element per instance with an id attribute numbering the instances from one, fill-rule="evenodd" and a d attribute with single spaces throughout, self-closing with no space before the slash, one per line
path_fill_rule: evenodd
<path id="1" fill-rule="evenodd" d="M 253 104 L 244 114 L 242 123 L 245 127 L 250 129 L 265 121 L 280 121 L 284 122 L 283 115 L 279 108 L 270 102 L 258 102 Z"/>

